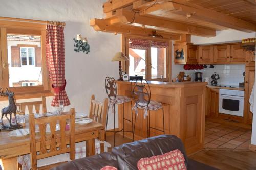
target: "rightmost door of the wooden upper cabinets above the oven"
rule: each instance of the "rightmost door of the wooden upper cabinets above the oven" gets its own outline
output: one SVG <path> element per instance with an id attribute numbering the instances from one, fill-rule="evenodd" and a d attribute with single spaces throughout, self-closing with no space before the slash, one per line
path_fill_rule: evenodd
<path id="1" fill-rule="evenodd" d="M 230 62 L 245 62 L 245 50 L 241 43 L 230 45 Z"/>

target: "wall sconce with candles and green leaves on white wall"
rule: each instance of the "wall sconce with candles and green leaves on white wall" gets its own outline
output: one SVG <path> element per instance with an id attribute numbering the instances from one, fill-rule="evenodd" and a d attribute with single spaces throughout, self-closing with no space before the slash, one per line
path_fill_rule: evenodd
<path id="1" fill-rule="evenodd" d="M 82 37 L 80 34 L 76 35 L 76 39 L 73 39 L 74 44 L 74 51 L 75 52 L 86 52 L 86 54 L 90 53 L 90 45 L 88 44 L 88 40 L 86 37 Z"/>

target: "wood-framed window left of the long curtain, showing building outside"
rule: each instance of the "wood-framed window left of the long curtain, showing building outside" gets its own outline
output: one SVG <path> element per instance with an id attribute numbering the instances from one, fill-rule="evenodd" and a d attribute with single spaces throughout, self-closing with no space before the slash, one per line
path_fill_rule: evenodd
<path id="1" fill-rule="evenodd" d="M 0 19 L 0 37 L 0 87 L 10 88 L 16 95 L 50 93 L 45 58 L 46 26 L 32 20 Z"/>

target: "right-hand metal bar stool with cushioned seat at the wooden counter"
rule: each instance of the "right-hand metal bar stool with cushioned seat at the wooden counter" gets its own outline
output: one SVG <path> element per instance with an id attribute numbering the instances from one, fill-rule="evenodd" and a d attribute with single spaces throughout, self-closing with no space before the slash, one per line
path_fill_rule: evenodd
<path id="1" fill-rule="evenodd" d="M 147 137 L 150 137 L 150 129 L 155 129 L 165 134 L 164 111 L 163 111 L 162 103 L 151 100 L 150 85 L 148 85 L 147 81 L 133 80 L 131 82 L 131 91 L 133 94 L 133 100 L 135 101 L 133 110 L 135 110 L 135 115 L 136 115 L 134 120 L 133 138 L 134 138 L 134 132 L 135 132 L 136 117 L 138 116 L 138 108 L 144 110 L 144 119 L 146 119 Z M 163 114 L 163 130 L 150 126 L 150 112 L 160 110 L 160 109 L 162 109 L 162 114 Z"/>

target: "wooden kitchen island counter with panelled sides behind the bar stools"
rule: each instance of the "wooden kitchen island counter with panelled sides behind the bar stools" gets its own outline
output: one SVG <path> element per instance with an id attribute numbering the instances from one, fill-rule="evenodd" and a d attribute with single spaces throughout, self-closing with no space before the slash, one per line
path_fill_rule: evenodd
<path id="1" fill-rule="evenodd" d="M 131 81 L 117 81 L 118 95 L 132 97 Z M 165 134 L 176 135 L 182 139 L 187 154 L 204 148 L 205 124 L 205 92 L 206 82 L 158 82 L 148 81 L 151 90 L 151 100 L 161 102 L 164 108 Z M 134 103 L 133 103 L 134 104 Z M 123 125 L 122 105 L 118 105 L 119 130 Z M 131 103 L 124 104 L 124 118 L 132 120 Z M 135 113 L 133 111 L 133 121 Z M 150 125 L 163 129 L 162 110 L 151 111 Z M 132 130 L 132 123 L 124 122 L 125 130 Z M 163 134 L 155 129 L 150 130 L 150 136 Z M 125 133 L 132 138 L 132 134 Z M 146 119 L 143 110 L 138 111 L 135 127 L 135 139 L 146 138 Z"/>

